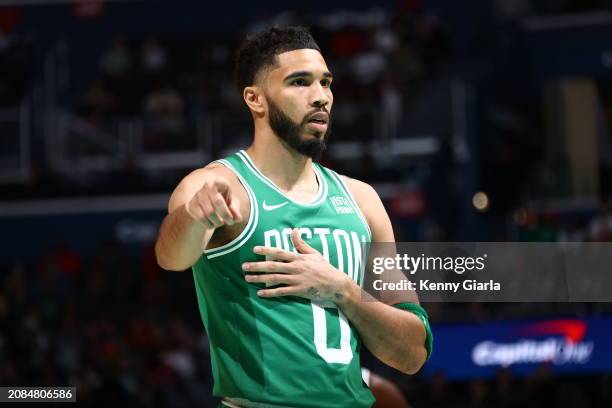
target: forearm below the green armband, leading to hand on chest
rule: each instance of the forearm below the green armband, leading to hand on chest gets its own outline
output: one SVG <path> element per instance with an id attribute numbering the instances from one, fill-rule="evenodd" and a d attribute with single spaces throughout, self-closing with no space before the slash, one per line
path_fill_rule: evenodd
<path id="1" fill-rule="evenodd" d="M 336 303 L 374 356 L 406 374 L 416 373 L 427 356 L 421 320 L 371 297 L 366 301 L 362 294 L 370 297 L 350 281 L 342 301 Z"/>

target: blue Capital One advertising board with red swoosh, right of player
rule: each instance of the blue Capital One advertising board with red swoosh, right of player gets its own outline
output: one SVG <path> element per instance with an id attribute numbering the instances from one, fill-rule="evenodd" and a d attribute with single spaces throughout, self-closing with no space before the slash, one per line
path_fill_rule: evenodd
<path id="1" fill-rule="evenodd" d="M 433 325 L 434 352 L 425 375 L 487 378 L 501 368 L 529 375 L 612 372 L 612 318 L 558 318 L 489 324 Z"/>

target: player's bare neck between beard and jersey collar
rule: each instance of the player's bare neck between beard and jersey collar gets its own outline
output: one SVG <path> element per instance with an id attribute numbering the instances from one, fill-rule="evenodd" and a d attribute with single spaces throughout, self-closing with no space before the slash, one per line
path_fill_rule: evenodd
<path id="1" fill-rule="evenodd" d="M 246 152 L 255 166 L 284 191 L 317 183 L 312 159 L 288 149 L 278 140 L 256 140 Z"/>

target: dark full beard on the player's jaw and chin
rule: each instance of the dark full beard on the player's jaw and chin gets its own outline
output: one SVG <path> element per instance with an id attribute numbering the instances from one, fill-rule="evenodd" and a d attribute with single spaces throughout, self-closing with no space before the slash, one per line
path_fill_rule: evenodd
<path id="1" fill-rule="evenodd" d="M 319 160 L 323 151 L 327 147 L 327 138 L 331 133 L 331 115 L 327 121 L 325 134 L 321 132 L 315 134 L 316 137 L 303 138 L 302 133 L 308 132 L 308 116 L 304 117 L 301 123 L 296 123 L 283 112 L 274 102 L 268 98 L 270 109 L 270 127 L 276 136 L 287 147 L 296 152 L 308 156 L 313 160 Z"/>

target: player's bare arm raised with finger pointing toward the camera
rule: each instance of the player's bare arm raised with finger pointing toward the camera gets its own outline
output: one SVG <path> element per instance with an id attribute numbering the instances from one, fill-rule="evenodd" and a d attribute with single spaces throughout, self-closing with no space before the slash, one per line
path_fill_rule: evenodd
<path id="1" fill-rule="evenodd" d="M 238 235 L 248 212 L 246 192 L 225 166 L 211 163 L 191 172 L 170 197 L 155 243 L 157 262 L 171 271 L 191 267 L 204 249 Z"/>

